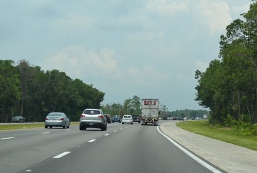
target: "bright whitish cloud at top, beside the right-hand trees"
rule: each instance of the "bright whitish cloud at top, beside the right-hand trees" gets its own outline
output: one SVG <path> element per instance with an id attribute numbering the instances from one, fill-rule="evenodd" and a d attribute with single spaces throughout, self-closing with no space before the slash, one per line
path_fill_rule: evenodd
<path id="1" fill-rule="evenodd" d="M 210 3 L 208 0 L 201 1 L 196 8 L 196 19 L 207 25 L 210 34 L 222 32 L 231 23 L 230 8 L 225 2 Z"/>

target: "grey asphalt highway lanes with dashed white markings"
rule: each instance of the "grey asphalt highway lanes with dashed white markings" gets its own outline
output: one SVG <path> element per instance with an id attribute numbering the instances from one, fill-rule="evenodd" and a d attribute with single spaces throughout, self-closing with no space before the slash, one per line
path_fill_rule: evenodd
<path id="1" fill-rule="evenodd" d="M 106 131 L 80 131 L 79 125 L 0 131 L 3 173 L 225 172 L 210 163 L 203 166 L 199 160 L 153 125 L 111 123 Z"/>

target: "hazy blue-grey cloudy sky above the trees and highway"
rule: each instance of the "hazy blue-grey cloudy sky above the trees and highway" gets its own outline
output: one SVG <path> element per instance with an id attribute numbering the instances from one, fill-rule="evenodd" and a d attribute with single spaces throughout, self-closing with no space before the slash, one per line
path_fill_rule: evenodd
<path id="1" fill-rule="evenodd" d="M 219 37 L 249 0 L 0 0 L 0 59 L 57 69 L 105 93 L 169 111 L 205 109 L 196 69 L 218 59 Z M 86 97 L 86 95 L 85 95 Z"/>

